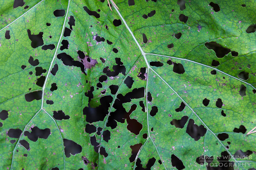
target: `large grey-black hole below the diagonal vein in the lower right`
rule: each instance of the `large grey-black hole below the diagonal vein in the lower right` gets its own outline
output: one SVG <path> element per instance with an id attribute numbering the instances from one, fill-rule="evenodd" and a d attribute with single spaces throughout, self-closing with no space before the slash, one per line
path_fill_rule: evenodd
<path id="1" fill-rule="evenodd" d="M 201 137 L 203 137 L 206 133 L 206 128 L 203 125 L 196 125 L 193 119 L 189 119 L 186 133 L 195 141 L 198 141 Z"/>

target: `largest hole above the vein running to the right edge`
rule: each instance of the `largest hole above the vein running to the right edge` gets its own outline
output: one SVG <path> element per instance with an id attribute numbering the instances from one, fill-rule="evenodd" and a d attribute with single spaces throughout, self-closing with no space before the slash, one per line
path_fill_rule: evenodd
<path id="1" fill-rule="evenodd" d="M 206 42 L 204 45 L 206 48 L 214 50 L 218 58 L 223 58 L 225 55 L 227 55 L 230 52 L 229 48 L 224 48 L 220 44 L 217 44 L 214 41 Z"/>

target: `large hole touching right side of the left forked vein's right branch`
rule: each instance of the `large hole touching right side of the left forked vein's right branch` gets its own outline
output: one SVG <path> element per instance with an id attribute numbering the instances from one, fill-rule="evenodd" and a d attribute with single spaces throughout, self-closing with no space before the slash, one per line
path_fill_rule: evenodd
<path id="1" fill-rule="evenodd" d="M 64 151 L 67 158 L 70 157 L 70 154 L 76 155 L 77 153 L 82 152 L 82 146 L 76 142 L 68 139 L 63 139 L 64 142 Z"/>

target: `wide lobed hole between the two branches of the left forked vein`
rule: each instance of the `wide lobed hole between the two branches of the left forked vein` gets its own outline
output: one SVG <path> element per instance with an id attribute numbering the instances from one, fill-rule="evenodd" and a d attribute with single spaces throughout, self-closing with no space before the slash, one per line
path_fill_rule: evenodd
<path id="1" fill-rule="evenodd" d="M 39 129 L 37 126 L 31 128 L 31 132 L 24 132 L 24 136 L 28 136 L 28 139 L 36 142 L 38 138 L 47 139 L 50 135 L 51 130 L 49 128 Z"/>

